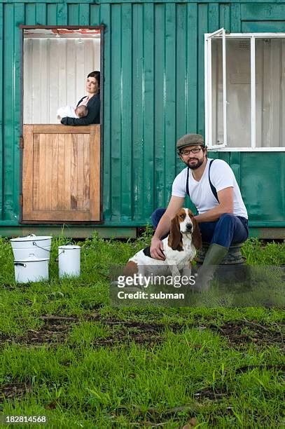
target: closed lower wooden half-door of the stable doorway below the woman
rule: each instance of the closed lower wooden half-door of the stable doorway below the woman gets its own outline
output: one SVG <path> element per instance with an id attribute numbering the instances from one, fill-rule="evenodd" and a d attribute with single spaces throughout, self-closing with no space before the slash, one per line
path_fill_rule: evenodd
<path id="1" fill-rule="evenodd" d="M 100 220 L 100 125 L 24 125 L 22 222 Z"/>

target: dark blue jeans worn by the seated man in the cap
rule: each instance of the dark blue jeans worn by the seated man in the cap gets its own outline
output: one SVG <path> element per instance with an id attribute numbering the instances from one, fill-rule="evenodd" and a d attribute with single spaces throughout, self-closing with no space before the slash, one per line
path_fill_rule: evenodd
<path id="1" fill-rule="evenodd" d="M 151 214 L 154 229 L 158 226 L 165 210 L 165 208 L 159 208 Z M 216 222 L 201 222 L 199 228 L 202 241 L 223 247 L 230 247 L 234 243 L 243 243 L 249 236 L 247 219 L 230 213 L 221 214 L 220 219 Z"/>

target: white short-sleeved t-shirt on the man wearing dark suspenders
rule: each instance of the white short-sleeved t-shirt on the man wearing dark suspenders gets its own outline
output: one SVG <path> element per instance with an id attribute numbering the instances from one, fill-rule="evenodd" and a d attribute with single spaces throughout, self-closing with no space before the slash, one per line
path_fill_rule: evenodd
<path id="1" fill-rule="evenodd" d="M 204 169 L 203 175 L 199 182 L 194 179 L 192 170 L 189 170 L 189 194 L 193 204 L 197 207 L 199 214 L 211 210 L 218 201 L 216 200 L 214 193 L 211 191 L 209 184 L 209 163 L 211 159 L 208 158 L 206 168 Z M 230 168 L 230 165 L 225 163 L 221 159 L 215 159 L 211 163 L 210 170 L 211 183 L 216 188 L 216 191 L 221 191 L 225 188 L 233 188 L 233 214 L 235 216 L 241 216 L 248 219 L 246 207 L 242 200 L 242 195 L 239 190 L 239 185 L 235 179 L 235 175 Z M 184 168 L 179 175 L 177 175 L 172 184 L 172 195 L 185 198 L 186 196 L 186 180 L 187 180 L 187 167 Z"/>

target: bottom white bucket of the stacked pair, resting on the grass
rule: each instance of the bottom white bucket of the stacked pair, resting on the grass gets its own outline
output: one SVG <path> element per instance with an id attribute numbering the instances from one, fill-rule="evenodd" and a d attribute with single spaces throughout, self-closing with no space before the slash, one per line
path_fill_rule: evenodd
<path id="1" fill-rule="evenodd" d="M 14 261 L 15 280 L 18 283 L 48 280 L 48 258 L 22 259 Z"/>

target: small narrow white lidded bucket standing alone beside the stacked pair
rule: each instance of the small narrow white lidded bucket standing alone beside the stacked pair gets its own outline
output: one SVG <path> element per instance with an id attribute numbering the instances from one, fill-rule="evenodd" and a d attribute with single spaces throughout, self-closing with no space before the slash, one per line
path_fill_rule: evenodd
<path id="1" fill-rule="evenodd" d="M 80 275 L 80 246 L 65 245 L 58 247 L 58 268 L 60 278 Z"/>

